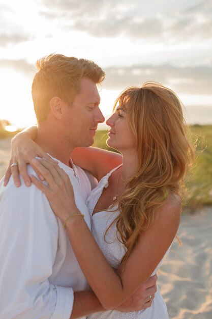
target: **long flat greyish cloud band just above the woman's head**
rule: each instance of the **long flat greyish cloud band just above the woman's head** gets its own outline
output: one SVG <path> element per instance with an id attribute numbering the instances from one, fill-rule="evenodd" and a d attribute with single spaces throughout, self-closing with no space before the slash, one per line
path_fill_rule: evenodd
<path id="1" fill-rule="evenodd" d="M 180 93 L 211 94 L 212 67 L 175 67 L 171 65 L 139 66 L 104 69 L 104 88 L 124 89 L 142 85 L 146 81 L 156 81 Z M 212 102 L 211 102 L 212 104 Z"/>

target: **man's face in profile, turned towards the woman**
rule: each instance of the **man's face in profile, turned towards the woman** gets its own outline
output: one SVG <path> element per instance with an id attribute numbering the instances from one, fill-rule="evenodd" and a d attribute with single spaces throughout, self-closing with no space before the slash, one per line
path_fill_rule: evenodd
<path id="1" fill-rule="evenodd" d="M 66 139 L 73 147 L 87 147 L 94 143 L 98 123 L 105 120 L 99 104 L 97 85 L 89 78 L 82 78 L 81 92 L 75 97 L 73 105 L 67 106 L 66 110 Z"/>

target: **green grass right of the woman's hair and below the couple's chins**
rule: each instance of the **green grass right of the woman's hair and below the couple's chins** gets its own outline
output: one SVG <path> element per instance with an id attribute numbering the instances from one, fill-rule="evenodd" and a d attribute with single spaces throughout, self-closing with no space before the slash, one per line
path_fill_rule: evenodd
<path id="1" fill-rule="evenodd" d="M 186 180 L 186 205 L 195 208 L 212 204 L 212 125 L 192 125 L 190 129 L 197 147 Z M 107 138 L 107 130 L 98 130 L 93 146 L 114 151 L 106 145 Z"/>

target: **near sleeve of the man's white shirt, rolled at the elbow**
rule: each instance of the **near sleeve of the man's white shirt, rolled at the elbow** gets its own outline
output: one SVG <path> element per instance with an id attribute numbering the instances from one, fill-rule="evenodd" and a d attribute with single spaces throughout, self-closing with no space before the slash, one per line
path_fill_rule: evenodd
<path id="1" fill-rule="evenodd" d="M 0 237 L 0 319 L 69 319 L 72 288 L 49 282 L 57 218 L 35 185 L 1 185 Z"/>

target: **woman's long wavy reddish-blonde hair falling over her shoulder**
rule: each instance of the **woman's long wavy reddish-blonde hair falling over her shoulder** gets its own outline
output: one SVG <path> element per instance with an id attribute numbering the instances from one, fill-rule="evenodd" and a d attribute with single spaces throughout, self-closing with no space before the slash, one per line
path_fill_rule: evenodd
<path id="1" fill-rule="evenodd" d="M 118 198 L 120 214 L 114 221 L 127 248 L 124 264 L 141 232 L 156 222 L 168 194 L 180 196 L 192 163 L 193 147 L 183 105 L 172 90 L 146 82 L 141 88 L 130 87 L 120 93 L 114 109 L 117 105 L 123 109 L 127 105 L 128 124 L 137 143 L 139 160 L 137 174 L 128 180 L 125 192 Z"/>

